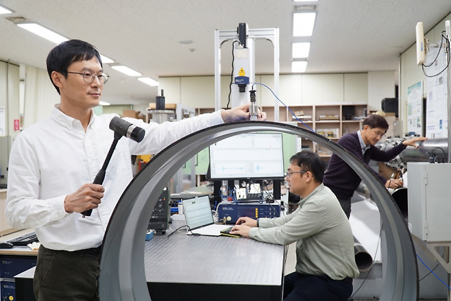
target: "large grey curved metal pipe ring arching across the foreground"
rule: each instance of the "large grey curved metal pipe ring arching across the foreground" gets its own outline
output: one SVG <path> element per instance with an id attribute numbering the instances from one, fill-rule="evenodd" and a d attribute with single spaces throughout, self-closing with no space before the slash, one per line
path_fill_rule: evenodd
<path id="1" fill-rule="evenodd" d="M 324 136 L 284 123 L 262 121 L 227 123 L 195 132 L 164 149 L 138 173 L 114 209 L 103 239 L 99 278 L 101 300 L 151 300 L 145 280 L 144 235 L 151 211 L 173 171 L 212 143 L 236 134 L 262 131 L 310 139 L 330 149 L 356 171 L 367 183 L 386 230 L 387 273 L 380 300 L 418 300 L 417 260 L 411 235 L 393 198 L 369 167 Z"/>

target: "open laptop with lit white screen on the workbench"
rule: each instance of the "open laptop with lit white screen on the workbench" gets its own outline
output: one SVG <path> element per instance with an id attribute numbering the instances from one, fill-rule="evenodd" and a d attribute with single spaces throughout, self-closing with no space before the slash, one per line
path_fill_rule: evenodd
<path id="1" fill-rule="evenodd" d="M 182 200 L 182 206 L 188 234 L 219 236 L 221 230 L 230 228 L 230 225 L 215 224 L 208 195 Z"/>

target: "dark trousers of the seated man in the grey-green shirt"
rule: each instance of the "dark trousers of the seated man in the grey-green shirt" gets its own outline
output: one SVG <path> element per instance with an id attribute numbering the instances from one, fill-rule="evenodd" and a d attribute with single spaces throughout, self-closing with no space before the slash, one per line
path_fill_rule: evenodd
<path id="1" fill-rule="evenodd" d="M 284 301 L 348 301 L 352 278 L 332 280 L 293 272 L 284 278 Z"/>

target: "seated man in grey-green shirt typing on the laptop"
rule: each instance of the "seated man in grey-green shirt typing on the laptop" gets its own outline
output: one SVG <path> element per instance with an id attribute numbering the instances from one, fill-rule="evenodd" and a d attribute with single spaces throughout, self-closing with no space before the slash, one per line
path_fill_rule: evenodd
<path id="1" fill-rule="evenodd" d="M 358 277 L 354 239 L 337 197 L 322 184 L 324 162 L 313 152 L 290 158 L 289 191 L 299 208 L 273 219 L 240 217 L 231 234 L 266 243 L 296 243 L 296 272 L 284 278 L 284 301 L 347 301 Z"/>

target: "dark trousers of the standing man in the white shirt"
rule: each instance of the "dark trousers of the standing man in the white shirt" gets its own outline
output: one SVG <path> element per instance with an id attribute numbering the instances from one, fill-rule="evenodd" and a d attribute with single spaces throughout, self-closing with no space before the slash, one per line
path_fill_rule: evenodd
<path id="1" fill-rule="evenodd" d="M 40 246 L 33 290 L 37 301 L 97 301 L 100 248 L 75 252 Z"/>

